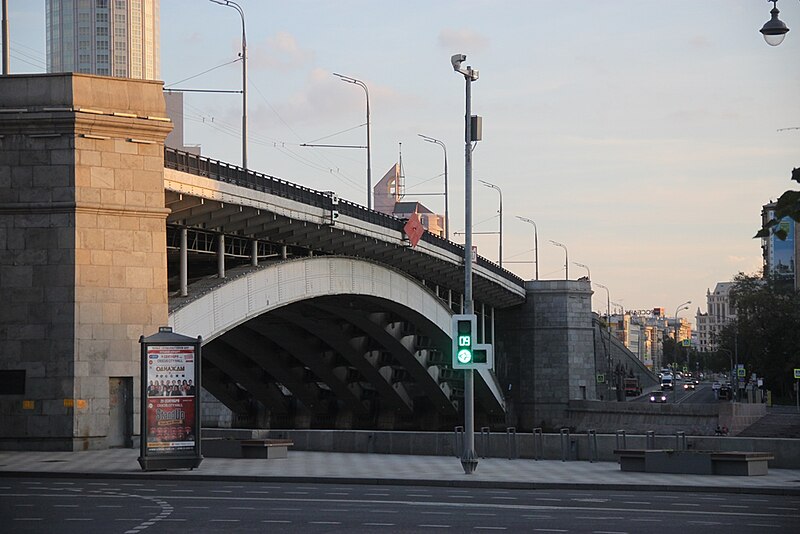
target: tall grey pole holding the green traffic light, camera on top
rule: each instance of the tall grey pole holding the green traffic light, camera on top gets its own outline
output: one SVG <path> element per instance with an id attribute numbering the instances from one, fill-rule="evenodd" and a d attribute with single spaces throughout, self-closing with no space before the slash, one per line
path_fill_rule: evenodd
<path id="1" fill-rule="evenodd" d="M 471 66 L 462 68 L 467 60 L 464 54 L 450 58 L 453 70 L 462 74 L 466 82 L 466 113 L 464 115 L 464 313 L 474 312 L 472 302 L 472 82 L 478 71 Z M 475 377 L 472 369 L 464 369 L 464 452 L 461 466 L 464 473 L 472 474 L 478 467 L 475 454 Z"/>

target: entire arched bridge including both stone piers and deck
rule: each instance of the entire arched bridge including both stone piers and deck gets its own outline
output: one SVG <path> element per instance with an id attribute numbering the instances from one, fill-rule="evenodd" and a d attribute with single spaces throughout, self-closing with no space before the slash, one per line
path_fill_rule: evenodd
<path id="1" fill-rule="evenodd" d="M 203 339 L 247 426 L 450 430 L 464 249 L 273 176 L 164 149 L 160 82 L 0 77 L 0 448 L 130 446 L 141 336 Z M 604 393 L 588 281 L 473 268 L 480 426 L 568 423 Z M 605 350 L 605 352 L 603 352 Z M 621 354 L 621 355 L 620 355 Z M 611 398 L 606 391 L 606 398 Z"/>

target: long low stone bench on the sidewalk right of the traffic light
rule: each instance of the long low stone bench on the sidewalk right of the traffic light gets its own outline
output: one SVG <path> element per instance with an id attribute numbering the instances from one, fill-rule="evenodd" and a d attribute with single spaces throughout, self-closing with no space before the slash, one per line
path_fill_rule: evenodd
<path id="1" fill-rule="evenodd" d="M 621 471 L 694 475 L 766 475 L 774 456 L 763 452 L 616 449 Z"/>

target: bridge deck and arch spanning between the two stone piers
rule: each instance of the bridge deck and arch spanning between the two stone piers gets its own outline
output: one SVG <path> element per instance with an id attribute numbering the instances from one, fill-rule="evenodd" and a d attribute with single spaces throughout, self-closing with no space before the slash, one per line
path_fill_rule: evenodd
<path id="1" fill-rule="evenodd" d="M 405 221 L 220 161 L 167 148 L 164 165 L 169 322 L 203 337 L 203 386 L 240 422 L 452 426 L 461 245 L 425 233 L 411 247 Z M 489 340 L 495 309 L 525 288 L 483 257 L 474 272 Z M 480 376 L 479 408 L 502 414 L 496 378 Z"/>

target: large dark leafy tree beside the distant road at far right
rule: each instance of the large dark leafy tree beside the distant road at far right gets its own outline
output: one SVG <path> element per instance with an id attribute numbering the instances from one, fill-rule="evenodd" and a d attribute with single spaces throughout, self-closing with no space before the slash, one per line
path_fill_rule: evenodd
<path id="1" fill-rule="evenodd" d="M 720 346 L 736 355 L 747 376 L 764 377 L 767 389 L 791 397 L 794 368 L 800 368 L 800 292 L 780 280 L 739 273 L 731 288 L 736 320 L 720 336 Z"/>

